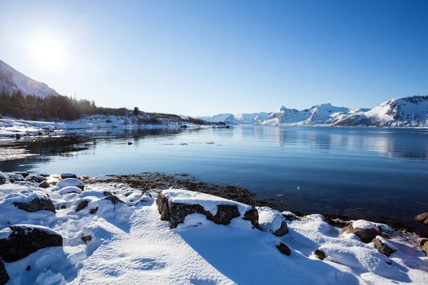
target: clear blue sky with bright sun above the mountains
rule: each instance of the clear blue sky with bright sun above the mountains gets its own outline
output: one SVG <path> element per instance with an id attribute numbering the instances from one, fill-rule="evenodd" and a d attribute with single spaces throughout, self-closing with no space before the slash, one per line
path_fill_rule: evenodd
<path id="1" fill-rule="evenodd" d="M 183 115 L 428 95 L 428 1 L 0 0 L 0 59 L 61 95 Z"/>

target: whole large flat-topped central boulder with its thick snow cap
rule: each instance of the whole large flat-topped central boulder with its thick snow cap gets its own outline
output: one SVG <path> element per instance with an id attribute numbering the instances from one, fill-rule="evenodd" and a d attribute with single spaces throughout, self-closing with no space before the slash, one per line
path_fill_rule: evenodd
<path id="1" fill-rule="evenodd" d="M 176 201 L 174 199 L 175 197 L 177 197 Z M 210 204 L 210 207 L 215 207 L 215 214 L 204 209 L 201 205 L 204 203 Z M 245 204 L 221 199 L 212 195 L 187 190 L 164 190 L 159 193 L 156 204 L 158 205 L 161 219 L 170 221 L 171 228 L 175 228 L 178 224 L 183 223 L 185 217 L 193 213 L 203 214 L 208 220 L 215 224 L 227 225 L 230 224 L 233 218 L 241 216 L 238 205 L 242 205 L 246 210 L 243 214 L 243 219 L 249 220 L 254 227 L 260 229 L 260 225 L 258 224 L 258 212 L 256 209 Z"/>

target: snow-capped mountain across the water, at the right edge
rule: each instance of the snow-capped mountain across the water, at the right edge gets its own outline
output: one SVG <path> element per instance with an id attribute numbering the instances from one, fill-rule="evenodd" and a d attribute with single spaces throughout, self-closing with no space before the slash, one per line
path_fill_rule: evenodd
<path id="1" fill-rule="evenodd" d="M 332 125 L 428 127 L 428 95 L 394 98 L 366 112 L 338 116 Z"/>

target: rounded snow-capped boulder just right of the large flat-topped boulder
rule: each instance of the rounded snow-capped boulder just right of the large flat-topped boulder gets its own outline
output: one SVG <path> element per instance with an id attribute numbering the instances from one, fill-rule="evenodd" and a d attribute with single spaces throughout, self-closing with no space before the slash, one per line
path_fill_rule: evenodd
<path id="1" fill-rule="evenodd" d="M 258 223 L 263 232 L 270 232 L 276 237 L 282 237 L 288 233 L 287 222 L 281 212 L 269 207 L 256 207 L 258 210 Z"/>

